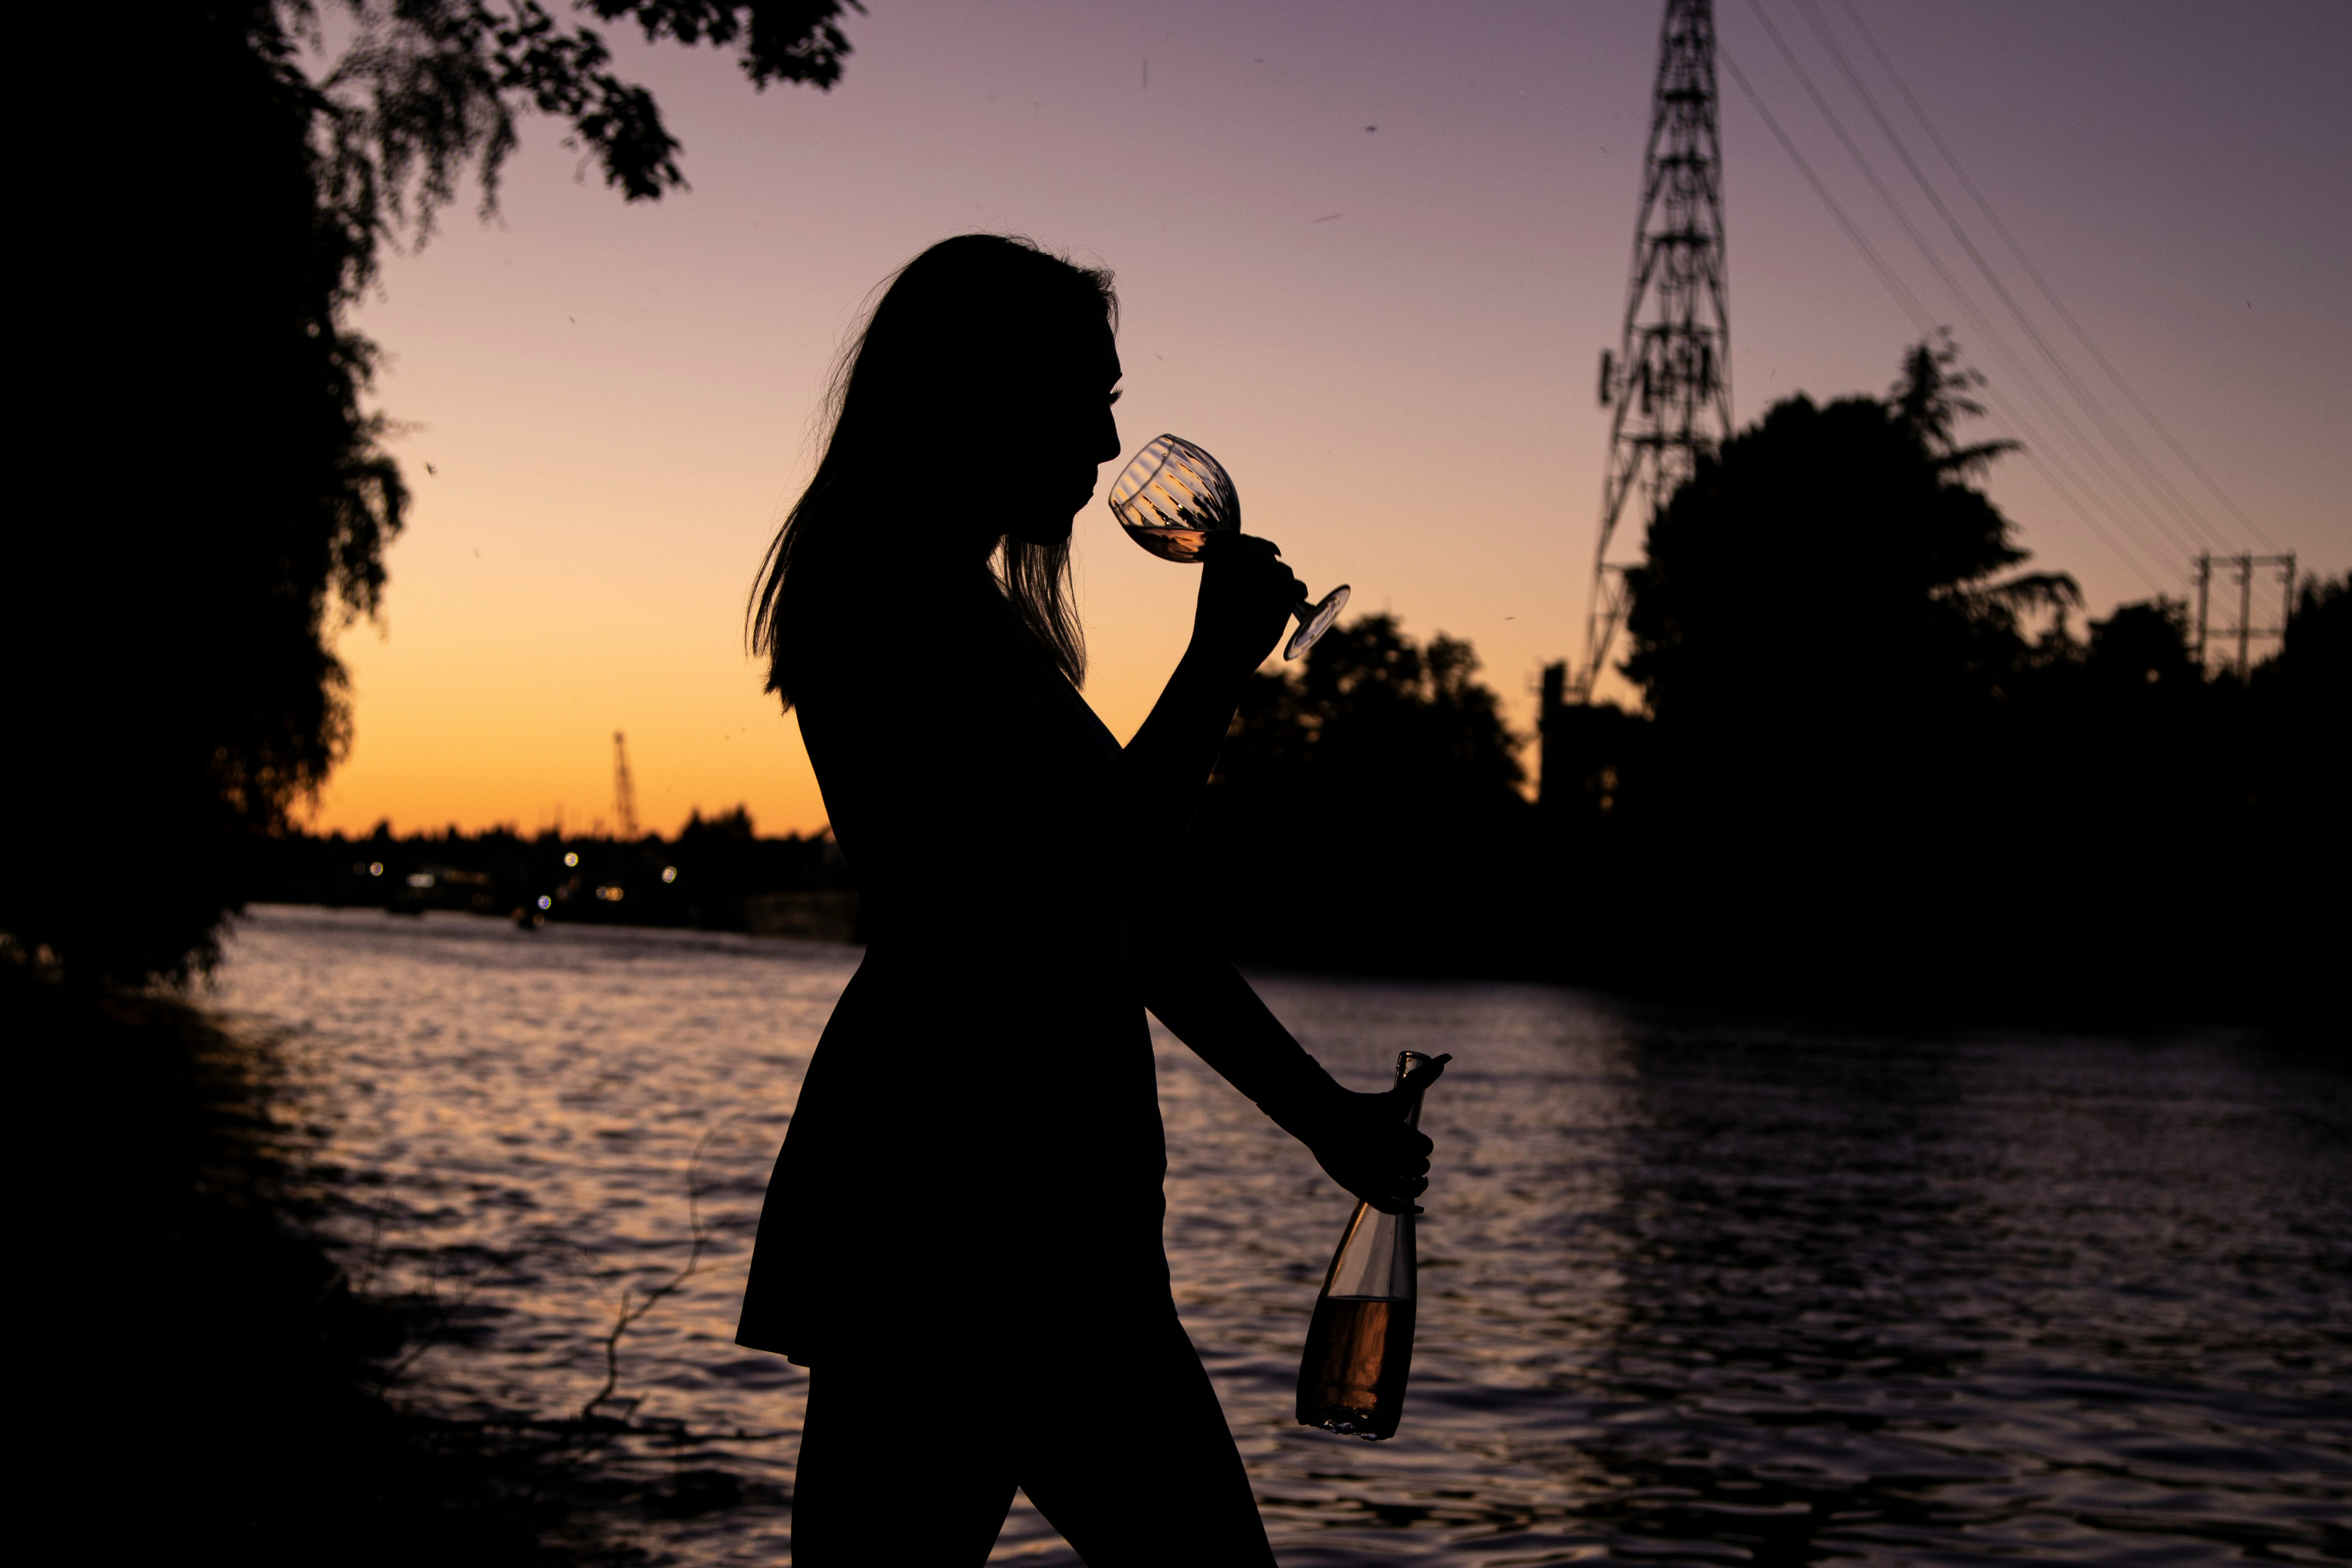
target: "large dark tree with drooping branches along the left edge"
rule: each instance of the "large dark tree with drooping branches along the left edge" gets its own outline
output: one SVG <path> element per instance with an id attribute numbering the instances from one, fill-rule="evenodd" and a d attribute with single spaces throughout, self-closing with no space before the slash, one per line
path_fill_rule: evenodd
<path id="1" fill-rule="evenodd" d="M 828 87 L 837 0 L 583 0 Z M 407 487 L 350 306 L 517 115 L 628 200 L 682 183 L 654 99 L 539 0 L 146 0 L 21 16 L 68 115 L 31 167 L 31 433 L 5 578 L 0 938 L 89 978 L 209 961 L 256 835 L 350 736 L 329 637 L 383 597 Z M 303 45 L 346 47 L 322 75 Z M 54 82 L 52 82 L 54 92 Z"/>

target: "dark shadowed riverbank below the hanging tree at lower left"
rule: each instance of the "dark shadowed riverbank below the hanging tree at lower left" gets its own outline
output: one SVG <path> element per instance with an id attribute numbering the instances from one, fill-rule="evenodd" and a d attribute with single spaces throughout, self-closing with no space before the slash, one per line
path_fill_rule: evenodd
<path id="1" fill-rule="evenodd" d="M 35 1495 L 92 1533 L 75 1556 L 619 1561 L 581 1540 L 541 1434 L 400 1406 L 433 1324 L 355 1288 L 322 1232 L 322 1128 L 270 1039 L 19 966 L 0 1020 L 35 1088 Z"/>

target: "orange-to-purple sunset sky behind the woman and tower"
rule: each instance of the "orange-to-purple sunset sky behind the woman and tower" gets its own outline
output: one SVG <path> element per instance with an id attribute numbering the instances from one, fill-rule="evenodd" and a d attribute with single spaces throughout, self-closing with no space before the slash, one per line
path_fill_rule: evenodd
<path id="1" fill-rule="evenodd" d="M 1583 642 L 1595 362 L 1623 315 L 1661 0 L 870 2 L 847 19 L 856 52 L 830 94 L 755 94 L 724 54 L 614 31 L 684 141 L 691 190 L 623 205 L 560 127 L 527 122 L 499 216 L 480 223 L 468 195 L 386 268 L 360 327 L 388 350 L 379 402 L 405 423 L 416 508 L 383 623 L 339 644 L 358 738 L 320 830 L 529 832 L 557 813 L 586 830 L 612 816 L 616 729 L 647 827 L 739 802 L 762 832 L 821 825 L 797 729 L 743 651 L 743 595 L 809 473 L 842 336 L 891 268 L 962 230 L 1115 268 L 1127 449 L 1162 430 L 1209 447 L 1310 588 L 1350 581 L 1357 609 L 1472 639 L 1531 724 L 1538 668 Z M 2105 614 L 2183 595 L 2201 545 L 2352 564 L 2352 5 L 1853 0 L 2256 538 L 1966 205 L 1844 0 L 1757 2 L 2067 400 L 1811 33 L 1816 7 L 2053 350 L 2209 529 L 2133 491 L 2131 458 L 2107 449 L 2117 482 L 2091 484 L 2124 522 L 2093 512 L 2103 541 L 2011 458 L 1992 494 L 2039 567 L 2077 574 Z M 2032 411 L 1750 0 L 1719 0 L 1717 28 L 1879 256 Z M 1722 134 L 1736 418 L 1797 390 L 1882 393 L 1910 315 L 1729 71 Z M 1087 696 L 1124 736 L 1183 646 L 1197 576 L 1136 550 L 1101 501 L 1077 527 Z M 908 708 L 948 701 L 955 677 Z M 1788 679 L 1806 693 L 1811 672 Z"/>

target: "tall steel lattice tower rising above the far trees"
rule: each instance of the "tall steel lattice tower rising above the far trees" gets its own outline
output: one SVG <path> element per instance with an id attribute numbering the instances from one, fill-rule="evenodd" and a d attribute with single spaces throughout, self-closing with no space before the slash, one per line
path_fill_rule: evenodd
<path id="1" fill-rule="evenodd" d="M 1665 0 L 1658 82 L 1642 155 L 1625 336 L 1602 350 L 1609 473 L 1592 545 L 1585 661 L 1573 698 L 1592 701 L 1625 621 L 1625 569 L 1609 543 L 1625 503 L 1656 517 L 1700 451 L 1731 435 L 1731 308 L 1724 299 L 1724 153 L 1715 129 L 1715 0 Z"/>

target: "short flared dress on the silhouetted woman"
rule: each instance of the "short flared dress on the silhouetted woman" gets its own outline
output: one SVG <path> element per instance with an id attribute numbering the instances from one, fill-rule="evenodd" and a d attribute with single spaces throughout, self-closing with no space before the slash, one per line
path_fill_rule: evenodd
<path id="1" fill-rule="evenodd" d="M 736 1340 L 802 1366 L 1164 1342 L 1167 1147 L 1120 743 L 981 574 L 793 698 L 868 947 L 776 1157 Z"/>

